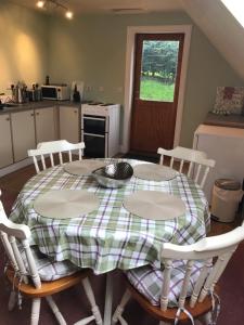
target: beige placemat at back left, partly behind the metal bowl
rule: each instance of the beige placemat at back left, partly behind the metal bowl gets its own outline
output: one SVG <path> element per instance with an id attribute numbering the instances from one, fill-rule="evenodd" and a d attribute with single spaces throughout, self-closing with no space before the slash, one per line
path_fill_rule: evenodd
<path id="1" fill-rule="evenodd" d="M 88 176 L 93 170 L 104 167 L 106 164 L 104 161 L 95 159 L 84 159 L 76 160 L 64 165 L 64 170 L 70 174 L 77 176 Z"/>

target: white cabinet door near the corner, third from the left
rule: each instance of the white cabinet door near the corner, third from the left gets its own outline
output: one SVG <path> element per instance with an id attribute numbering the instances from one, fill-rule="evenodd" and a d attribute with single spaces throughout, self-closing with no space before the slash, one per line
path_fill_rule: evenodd
<path id="1" fill-rule="evenodd" d="M 35 109 L 37 144 L 57 140 L 56 107 Z"/>

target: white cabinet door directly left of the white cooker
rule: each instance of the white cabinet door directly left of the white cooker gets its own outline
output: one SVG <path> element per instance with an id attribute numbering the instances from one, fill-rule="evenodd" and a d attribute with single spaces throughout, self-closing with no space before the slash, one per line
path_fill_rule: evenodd
<path id="1" fill-rule="evenodd" d="M 60 139 L 79 142 L 79 107 L 60 106 Z"/>

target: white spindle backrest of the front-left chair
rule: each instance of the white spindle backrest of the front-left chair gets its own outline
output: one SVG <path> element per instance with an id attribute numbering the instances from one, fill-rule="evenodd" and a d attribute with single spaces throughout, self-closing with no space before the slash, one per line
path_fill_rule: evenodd
<path id="1" fill-rule="evenodd" d="M 25 224 L 16 224 L 8 219 L 2 203 L 0 202 L 0 237 L 5 253 L 9 258 L 15 274 L 28 283 L 29 276 L 36 288 L 41 287 L 40 276 L 37 271 L 36 262 L 29 247 L 30 230 Z M 17 240 L 16 240 L 17 239 Z M 21 255 L 24 249 L 28 270 Z M 28 276 L 29 275 L 29 276 Z"/>

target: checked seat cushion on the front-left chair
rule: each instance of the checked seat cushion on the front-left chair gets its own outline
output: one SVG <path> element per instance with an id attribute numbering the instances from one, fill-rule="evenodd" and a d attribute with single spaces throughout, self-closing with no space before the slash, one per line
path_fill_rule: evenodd
<path id="1" fill-rule="evenodd" d="M 54 281 L 64 276 L 72 275 L 80 269 L 70 261 L 56 262 L 44 253 L 40 252 L 37 246 L 31 246 L 34 259 L 36 261 L 39 276 L 42 281 Z M 22 257 L 27 268 L 25 253 L 22 251 Z"/>

